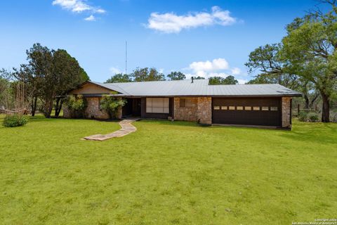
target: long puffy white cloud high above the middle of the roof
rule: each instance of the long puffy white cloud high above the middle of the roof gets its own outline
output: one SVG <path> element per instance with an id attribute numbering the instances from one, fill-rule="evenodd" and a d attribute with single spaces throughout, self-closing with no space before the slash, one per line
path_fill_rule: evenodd
<path id="1" fill-rule="evenodd" d="M 187 15 L 151 13 L 147 27 L 164 33 L 178 33 L 183 29 L 195 27 L 228 26 L 236 21 L 236 18 L 230 16 L 230 11 L 223 11 L 220 7 L 213 6 L 211 13 L 198 12 Z"/>

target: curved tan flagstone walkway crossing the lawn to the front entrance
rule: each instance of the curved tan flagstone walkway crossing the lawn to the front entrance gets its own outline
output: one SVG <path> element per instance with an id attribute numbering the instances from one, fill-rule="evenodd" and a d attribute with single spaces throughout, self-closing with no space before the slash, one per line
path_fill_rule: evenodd
<path id="1" fill-rule="evenodd" d="M 137 130 L 136 127 L 131 124 L 131 122 L 135 122 L 137 120 L 140 120 L 139 118 L 129 118 L 126 120 L 121 120 L 119 122 L 119 125 L 121 126 L 121 129 L 118 131 L 114 131 L 111 134 L 94 134 L 91 136 L 86 136 L 84 137 L 84 140 L 91 140 L 91 141 L 105 141 L 107 139 L 112 139 L 112 138 L 119 138 L 121 136 L 126 136 L 132 132 L 135 132 Z"/>

